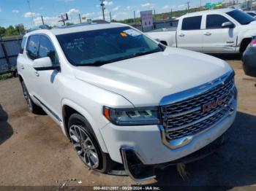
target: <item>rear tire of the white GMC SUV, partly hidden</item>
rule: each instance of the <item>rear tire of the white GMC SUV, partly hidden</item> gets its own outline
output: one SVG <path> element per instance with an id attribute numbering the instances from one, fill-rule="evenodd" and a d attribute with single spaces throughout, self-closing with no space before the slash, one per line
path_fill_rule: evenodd
<path id="1" fill-rule="evenodd" d="M 26 85 L 25 85 L 24 81 L 21 82 L 21 87 L 22 87 L 22 90 L 23 90 L 24 98 L 26 100 L 26 104 L 29 107 L 29 111 L 33 114 L 45 114 L 45 112 L 43 112 L 42 108 L 40 106 L 37 106 L 37 104 L 34 104 L 34 102 L 31 100 L 31 97 L 29 95 L 29 91 L 26 88 Z"/>

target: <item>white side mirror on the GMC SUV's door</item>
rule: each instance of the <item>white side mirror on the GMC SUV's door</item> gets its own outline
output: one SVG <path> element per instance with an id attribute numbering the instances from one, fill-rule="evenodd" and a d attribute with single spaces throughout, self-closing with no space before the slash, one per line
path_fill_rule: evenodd
<path id="1" fill-rule="evenodd" d="M 53 70 L 59 68 L 59 66 L 53 66 L 50 57 L 37 58 L 34 60 L 33 67 L 37 71 Z"/>

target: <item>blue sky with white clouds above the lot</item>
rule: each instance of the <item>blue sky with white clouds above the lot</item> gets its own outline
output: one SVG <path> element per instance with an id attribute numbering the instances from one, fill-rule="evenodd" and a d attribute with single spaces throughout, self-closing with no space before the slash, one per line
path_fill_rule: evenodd
<path id="1" fill-rule="evenodd" d="M 191 7 L 198 7 L 200 0 L 189 0 Z M 215 3 L 221 0 L 201 0 L 202 4 Z M 106 20 L 123 20 L 140 16 L 140 11 L 155 9 L 157 13 L 170 12 L 170 9 L 186 9 L 187 0 L 109 0 L 105 1 Z M 0 0 L 0 26 L 10 26 L 23 23 L 26 28 L 41 25 L 41 15 L 45 24 L 50 26 L 59 23 L 59 15 L 67 12 L 69 22 L 78 23 L 78 14 L 85 17 L 102 19 L 99 0 Z"/>

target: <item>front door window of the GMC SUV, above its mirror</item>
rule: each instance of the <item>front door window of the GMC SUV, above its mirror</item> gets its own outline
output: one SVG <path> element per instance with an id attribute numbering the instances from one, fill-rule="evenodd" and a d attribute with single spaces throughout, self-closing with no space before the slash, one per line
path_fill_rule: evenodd
<path id="1" fill-rule="evenodd" d="M 48 39 L 47 36 L 40 37 L 40 44 L 39 44 L 39 58 L 50 57 L 50 60 L 54 64 L 58 63 L 58 58 L 56 58 L 56 50 L 53 47 L 52 42 Z"/>

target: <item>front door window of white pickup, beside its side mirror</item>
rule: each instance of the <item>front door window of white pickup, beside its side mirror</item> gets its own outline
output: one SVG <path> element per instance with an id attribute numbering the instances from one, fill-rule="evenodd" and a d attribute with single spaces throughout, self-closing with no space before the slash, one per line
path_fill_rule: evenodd
<path id="1" fill-rule="evenodd" d="M 206 17 L 206 29 L 222 28 L 222 23 L 226 23 L 228 20 L 222 15 L 207 15 Z"/>

